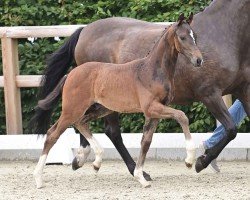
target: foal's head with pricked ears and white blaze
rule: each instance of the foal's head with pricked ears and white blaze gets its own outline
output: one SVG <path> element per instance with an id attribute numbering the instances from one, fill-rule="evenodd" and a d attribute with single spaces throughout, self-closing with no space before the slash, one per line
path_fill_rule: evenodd
<path id="1" fill-rule="evenodd" d="M 178 22 L 169 28 L 170 35 L 168 40 L 171 40 L 175 49 L 186 56 L 194 66 L 200 67 L 203 63 L 203 59 L 196 45 L 194 32 L 190 27 L 192 20 L 193 13 L 191 13 L 188 19 L 185 19 L 184 14 L 181 14 Z"/>

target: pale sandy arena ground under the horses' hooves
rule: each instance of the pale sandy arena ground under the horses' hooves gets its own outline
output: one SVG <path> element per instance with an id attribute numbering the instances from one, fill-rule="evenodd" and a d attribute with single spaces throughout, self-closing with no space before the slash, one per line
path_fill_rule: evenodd
<path id="1" fill-rule="evenodd" d="M 46 187 L 36 189 L 32 176 L 36 162 L 0 161 L 1 200 L 78 199 L 249 199 L 250 162 L 219 162 L 222 172 L 206 169 L 196 174 L 183 162 L 146 161 L 151 188 L 128 173 L 122 161 L 104 161 L 96 175 L 91 163 L 73 171 L 71 166 L 47 165 Z"/>

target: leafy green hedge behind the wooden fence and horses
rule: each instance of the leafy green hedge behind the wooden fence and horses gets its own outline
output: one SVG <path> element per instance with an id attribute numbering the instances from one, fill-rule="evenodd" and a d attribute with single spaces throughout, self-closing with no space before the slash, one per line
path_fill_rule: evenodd
<path id="1" fill-rule="evenodd" d="M 211 0 L 4 0 L 0 1 L 0 26 L 88 24 L 111 16 L 133 17 L 151 22 L 175 21 L 180 13 L 197 13 L 210 2 Z M 34 43 L 26 39 L 19 40 L 20 73 L 42 74 L 47 55 L 62 43 L 63 40 L 56 42 L 53 38 L 37 39 Z M 36 94 L 37 89 L 21 89 L 24 128 L 34 114 Z M 215 128 L 214 118 L 201 103 L 176 107 L 188 115 L 192 132 L 208 132 Z M 0 134 L 3 134 L 6 132 L 3 89 L 0 89 L 0 108 Z M 58 118 L 59 114 L 60 108 L 57 108 L 54 119 Z M 141 132 L 143 122 L 140 114 L 120 115 L 123 132 Z M 94 132 L 103 132 L 103 121 L 92 122 L 91 128 Z M 174 120 L 162 120 L 157 131 L 181 132 L 181 129 Z M 240 131 L 250 131 L 246 121 Z"/>

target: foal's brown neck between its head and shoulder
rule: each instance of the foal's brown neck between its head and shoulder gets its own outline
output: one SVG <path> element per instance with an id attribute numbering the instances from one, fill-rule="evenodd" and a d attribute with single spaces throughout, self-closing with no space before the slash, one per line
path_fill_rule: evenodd
<path id="1" fill-rule="evenodd" d="M 156 46 L 148 56 L 147 67 L 153 70 L 161 68 L 169 78 L 173 78 L 178 51 L 174 46 L 174 41 L 171 41 L 170 34 L 171 33 L 167 31 L 160 38 L 158 44 L 156 44 Z"/>

